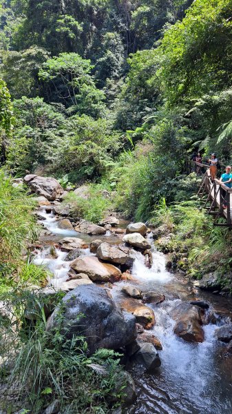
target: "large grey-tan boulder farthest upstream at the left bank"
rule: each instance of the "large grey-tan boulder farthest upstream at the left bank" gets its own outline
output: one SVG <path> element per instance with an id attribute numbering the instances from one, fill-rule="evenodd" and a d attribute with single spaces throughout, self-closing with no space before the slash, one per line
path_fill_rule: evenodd
<path id="1" fill-rule="evenodd" d="M 33 176 L 33 177 L 32 177 Z M 31 190 L 39 195 L 43 195 L 48 200 L 53 201 L 61 194 L 63 188 L 59 182 L 52 177 L 40 177 L 39 175 L 26 175 L 24 177 L 25 183 L 30 186 Z"/>

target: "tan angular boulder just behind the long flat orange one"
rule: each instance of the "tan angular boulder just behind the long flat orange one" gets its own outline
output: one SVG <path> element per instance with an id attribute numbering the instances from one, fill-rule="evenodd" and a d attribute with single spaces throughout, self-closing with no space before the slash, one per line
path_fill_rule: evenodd
<path id="1" fill-rule="evenodd" d="M 120 250 L 120 248 L 109 243 L 100 244 L 96 250 L 96 256 L 98 259 L 116 264 L 126 264 L 130 259 L 129 255 Z"/>

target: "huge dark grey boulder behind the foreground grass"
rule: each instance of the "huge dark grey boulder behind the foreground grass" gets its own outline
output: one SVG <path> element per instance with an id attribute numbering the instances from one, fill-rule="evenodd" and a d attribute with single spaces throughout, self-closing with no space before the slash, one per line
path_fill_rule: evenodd
<path id="1" fill-rule="evenodd" d="M 67 293 L 48 321 L 48 330 L 61 324 L 67 339 L 83 335 L 90 353 L 98 348 L 118 349 L 136 339 L 136 320 L 121 312 L 98 286 L 85 285 Z"/>

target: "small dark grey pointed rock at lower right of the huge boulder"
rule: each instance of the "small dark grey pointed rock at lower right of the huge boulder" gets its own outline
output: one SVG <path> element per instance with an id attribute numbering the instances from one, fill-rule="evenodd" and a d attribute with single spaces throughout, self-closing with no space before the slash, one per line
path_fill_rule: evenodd
<path id="1" fill-rule="evenodd" d="M 134 360 L 152 372 L 161 365 L 156 348 L 149 342 L 140 344 L 140 350 L 134 354 Z"/>

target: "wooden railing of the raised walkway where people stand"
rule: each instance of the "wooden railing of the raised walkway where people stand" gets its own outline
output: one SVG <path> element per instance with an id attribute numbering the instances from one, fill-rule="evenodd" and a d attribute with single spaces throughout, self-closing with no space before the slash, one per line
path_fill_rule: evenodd
<path id="1" fill-rule="evenodd" d="M 198 191 L 198 195 L 201 198 L 207 195 L 207 199 L 204 201 L 204 208 L 207 208 L 208 214 L 214 216 L 215 226 L 229 226 L 232 228 L 232 188 L 220 183 L 219 179 L 212 180 L 209 165 L 200 164 L 196 161 L 193 162 L 196 164 L 196 168 L 207 168 Z M 220 217 L 223 217 L 226 222 L 218 221 Z"/>

